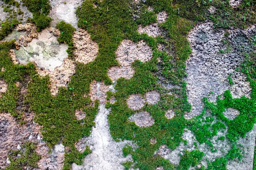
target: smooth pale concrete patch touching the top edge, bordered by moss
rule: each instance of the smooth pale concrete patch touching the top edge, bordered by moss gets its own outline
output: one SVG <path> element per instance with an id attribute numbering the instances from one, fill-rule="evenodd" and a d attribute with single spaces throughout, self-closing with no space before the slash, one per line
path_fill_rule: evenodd
<path id="1" fill-rule="evenodd" d="M 76 8 L 81 6 L 83 0 L 49 0 L 51 11 L 49 17 L 52 20 L 52 27 L 55 27 L 61 20 L 70 23 L 74 28 L 77 27 L 78 17 L 76 16 Z"/>

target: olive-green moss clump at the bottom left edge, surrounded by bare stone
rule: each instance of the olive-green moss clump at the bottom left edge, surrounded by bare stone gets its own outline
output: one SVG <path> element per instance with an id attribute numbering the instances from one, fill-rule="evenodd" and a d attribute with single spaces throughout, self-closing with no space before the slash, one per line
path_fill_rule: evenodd
<path id="1" fill-rule="evenodd" d="M 36 148 L 35 143 L 26 142 L 21 145 L 21 150 L 10 150 L 8 158 L 11 163 L 5 170 L 23 170 L 25 167 L 36 168 L 37 162 L 41 159 L 41 156 L 35 152 Z M 17 156 L 18 154 L 20 156 Z"/>

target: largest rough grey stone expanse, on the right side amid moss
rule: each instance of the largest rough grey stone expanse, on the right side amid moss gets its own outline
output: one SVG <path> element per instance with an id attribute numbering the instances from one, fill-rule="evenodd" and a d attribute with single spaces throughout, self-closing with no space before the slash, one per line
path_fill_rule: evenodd
<path id="1" fill-rule="evenodd" d="M 255 35 L 255 27 L 247 30 L 230 30 L 229 40 L 232 46 L 230 53 L 219 53 L 223 49 L 221 42 L 224 31 L 214 32 L 212 23 L 202 23 L 196 26 L 189 34 L 192 54 L 186 62 L 186 82 L 188 101 L 192 111 L 187 118 L 201 114 L 203 110 L 202 98 L 209 98 L 214 102 L 216 97 L 230 89 L 234 98 L 250 97 L 250 83 L 246 76 L 238 71 L 243 54 L 255 50 L 248 38 Z M 241 47 L 241 44 L 243 46 Z M 232 74 L 234 85 L 230 85 L 227 77 Z M 210 92 L 213 92 L 211 94 Z"/>

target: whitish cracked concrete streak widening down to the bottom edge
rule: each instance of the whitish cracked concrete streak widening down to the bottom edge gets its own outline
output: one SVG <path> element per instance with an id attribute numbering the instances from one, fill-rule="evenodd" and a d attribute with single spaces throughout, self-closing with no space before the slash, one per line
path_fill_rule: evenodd
<path id="1" fill-rule="evenodd" d="M 99 106 L 99 112 L 95 118 L 96 126 L 92 128 L 91 135 L 79 140 L 76 147 L 81 152 L 86 145 L 92 153 L 85 156 L 84 164 L 72 164 L 72 170 L 124 170 L 121 163 L 131 161 L 131 157 L 124 158 L 122 148 L 126 144 L 134 146 L 130 141 L 115 142 L 110 134 L 108 114 L 110 109 L 105 105 Z"/>

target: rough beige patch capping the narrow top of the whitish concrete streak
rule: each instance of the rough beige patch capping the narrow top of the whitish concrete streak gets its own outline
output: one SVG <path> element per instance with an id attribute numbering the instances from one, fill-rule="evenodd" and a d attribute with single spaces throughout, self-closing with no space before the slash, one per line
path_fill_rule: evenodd
<path id="1" fill-rule="evenodd" d="M 100 104 L 106 103 L 107 91 L 109 91 L 109 86 L 105 85 L 104 82 L 96 82 L 95 80 L 90 84 L 90 99 L 94 102 L 99 100 Z"/>

